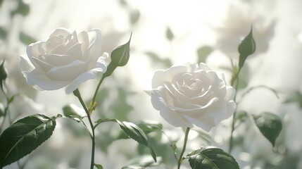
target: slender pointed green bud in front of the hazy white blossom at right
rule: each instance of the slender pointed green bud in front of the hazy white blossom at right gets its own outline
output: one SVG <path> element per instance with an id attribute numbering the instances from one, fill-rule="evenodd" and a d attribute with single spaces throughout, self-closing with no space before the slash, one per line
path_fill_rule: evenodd
<path id="1" fill-rule="evenodd" d="M 246 58 L 253 54 L 256 50 L 256 43 L 253 39 L 253 30 L 251 28 L 251 32 L 244 38 L 244 40 L 239 44 L 239 69 L 242 68 Z"/>

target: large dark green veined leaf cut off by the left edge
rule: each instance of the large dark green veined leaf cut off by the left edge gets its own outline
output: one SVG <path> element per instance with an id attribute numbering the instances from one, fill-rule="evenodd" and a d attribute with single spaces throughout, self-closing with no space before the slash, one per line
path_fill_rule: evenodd
<path id="1" fill-rule="evenodd" d="M 56 127 L 56 117 L 30 115 L 8 127 L 0 136 L 0 168 L 30 154 L 45 142 Z"/>

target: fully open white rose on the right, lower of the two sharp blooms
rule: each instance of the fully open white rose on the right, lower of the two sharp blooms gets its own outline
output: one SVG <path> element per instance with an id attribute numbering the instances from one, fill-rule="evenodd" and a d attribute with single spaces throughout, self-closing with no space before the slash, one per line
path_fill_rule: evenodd
<path id="1" fill-rule="evenodd" d="M 235 90 L 204 63 L 174 65 L 153 76 L 151 102 L 175 127 L 209 131 L 235 111 Z"/>

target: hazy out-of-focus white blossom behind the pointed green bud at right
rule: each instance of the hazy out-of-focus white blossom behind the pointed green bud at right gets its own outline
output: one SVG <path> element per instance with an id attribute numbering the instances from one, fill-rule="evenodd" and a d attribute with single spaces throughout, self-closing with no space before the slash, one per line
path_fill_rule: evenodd
<path id="1" fill-rule="evenodd" d="M 231 58 L 238 58 L 238 45 L 253 27 L 253 38 L 257 46 L 255 54 L 267 51 L 270 39 L 275 32 L 275 20 L 267 16 L 244 3 L 229 4 L 222 22 L 219 25 L 213 25 L 217 36 L 215 49 Z"/>

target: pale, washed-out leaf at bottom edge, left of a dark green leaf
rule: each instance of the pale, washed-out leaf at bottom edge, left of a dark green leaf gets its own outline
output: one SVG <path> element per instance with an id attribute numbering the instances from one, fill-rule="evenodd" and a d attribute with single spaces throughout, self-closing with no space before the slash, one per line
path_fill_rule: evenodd
<path id="1" fill-rule="evenodd" d="M 158 161 L 162 161 L 162 159 L 158 158 Z M 130 160 L 130 162 L 126 166 L 122 167 L 122 169 L 143 169 L 156 165 L 158 165 L 158 163 L 155 163 L 153 158 L 150 156 L 139 156 Z"/>

